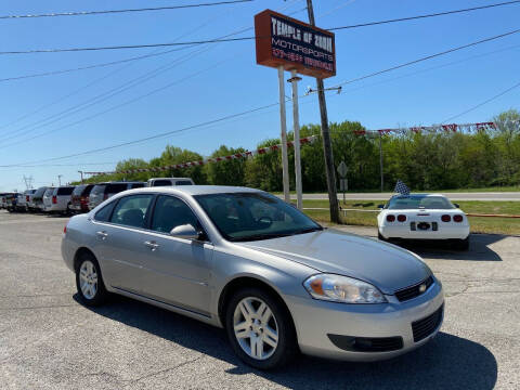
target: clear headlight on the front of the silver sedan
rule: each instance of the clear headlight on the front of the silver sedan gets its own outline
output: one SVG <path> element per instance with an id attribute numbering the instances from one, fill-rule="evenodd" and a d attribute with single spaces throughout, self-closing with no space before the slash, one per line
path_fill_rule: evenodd
<path id="1" fill-rule="evenodd" d="M 309 277 L 303 286 L 315 299 L 343 303 L 384 303 L 387 299 L 369 283 L 352 277 L 320 274 Z"/>

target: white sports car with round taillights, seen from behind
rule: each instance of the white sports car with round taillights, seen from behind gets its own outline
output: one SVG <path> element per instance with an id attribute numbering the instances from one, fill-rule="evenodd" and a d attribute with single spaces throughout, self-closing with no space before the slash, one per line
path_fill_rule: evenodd
<path id="1" fill-rule="evenodd" d="M 381 240 L 454 239 L 459 249 L 469 248 L 468 218 L 443 195 L 394 195 L 377 216 Z"/>

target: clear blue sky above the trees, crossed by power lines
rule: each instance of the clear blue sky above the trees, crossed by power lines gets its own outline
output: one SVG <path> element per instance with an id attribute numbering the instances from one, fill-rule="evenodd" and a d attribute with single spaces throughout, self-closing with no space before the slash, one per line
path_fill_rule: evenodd
<path id="1" fill-rule="evenodd" d="M 0 14 L 191 2 L 200 1 L 34 0 L 2 3 Z M 316 24 L 330 28 L 492 2 L 495 1 L 314 0 L 314 11 Z M 304 0 L 257 0 L 181 11 L 0 20 L 0 51 L 203 40 L 252 27 L 253 15 L 268 8 L 307 22 L 304 5 Z M 520 4 L 337 31 L 337 76 L 327 79 L 325 86 L 517 29 L 518 15 Z M 252 34 L 248 30 L 237 37 Z M 168 49 L 1 55 L 0 78 L 165 50 Z M 329 119 L 359 120 L 367 129 L 438 123 L 519 82 L 519 63 L 517 34 L 346 86 L 341 94 L 327 95 Z M 160 70 L 151 74 L 157 68 Z M 130 83 L 139 77 L 139 82 Z M 303 77 L 300 91 L 307 86 L 315 87 L 315 81 Z M 150 94 L 160 88 L 164 89 Z M 0 166 L 60 157 L 181 129 L 275 103 L 277 93 L 276 70 L 256 65 L 253 41 L 183 49 L 115 66 L 0 81 Z M 287 89 L 286 94 L 289 93 Z M 100 95 L 102 101 L 94 100 Z M 136 100 L 140 96 L 144 98 Z M 123 104 L 130 101 L 133 102 Z M 519 103 L 520 88 L 454 121 L 486 121 L 502 110 L 520 108 Z M 290 128 L 290 105 L 287 109 Z M 318 121 L 317 98 L 301 100 L 300 123 Z M 103 153 L 0 168 L 0 191 L 25 190 L 24 174 L 31 176 L 36 186 L 56 184 L 57 174 L 63 174 L 63 182 L 78 180 L 78 170 L 110 170 L 114 162 L 129 157 L 150 159 L 158 156 L 167 143 L 209 155 L 221 144 L 253 148 L 278 133 L 280 116 L 274 107 Z"/>

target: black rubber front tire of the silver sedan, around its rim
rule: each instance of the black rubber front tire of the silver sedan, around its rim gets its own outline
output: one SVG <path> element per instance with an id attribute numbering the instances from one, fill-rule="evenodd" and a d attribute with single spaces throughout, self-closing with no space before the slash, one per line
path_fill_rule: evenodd
<path id="1" fill-rule="evenodd" d="M 240 347 L 234 332 L 234 315 L 238 303 L 245 298 L 256 298 L 263 301 L 271 310 L 277 326 L 277 344 L 272 354 L 259 360 L 247 354 Z M 296 330 L 287 308 L 280 298 L 257 287 L 243 288 L 235 292 L 225 308 L 225 329 L 234 352 L 246 364 L 259 369 L 278 368 L 290 362 L 298 352 Z M 252 332 L 252 330 L 251 330 Z M 250 340 L 249 340 L 250 342 Z M 269 346 L 268 346 L 269 347 Z"/>

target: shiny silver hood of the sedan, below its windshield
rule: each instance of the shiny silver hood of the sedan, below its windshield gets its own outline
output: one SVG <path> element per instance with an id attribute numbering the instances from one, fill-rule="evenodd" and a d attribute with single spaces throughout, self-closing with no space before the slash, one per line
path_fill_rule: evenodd
<path id="1" fill-rule="evenodd" d="M 369 282 L 385 294 L 424 281 L 431 273 L 419 257 L 391 244 L 337 230 L 237 243 L 320 272 Z"/>

